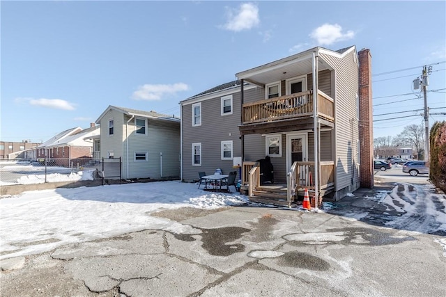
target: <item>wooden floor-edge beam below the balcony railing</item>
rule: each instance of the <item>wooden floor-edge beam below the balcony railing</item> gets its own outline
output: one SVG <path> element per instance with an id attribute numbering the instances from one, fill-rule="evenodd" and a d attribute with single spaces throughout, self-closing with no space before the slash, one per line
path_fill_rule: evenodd
<path id="1" fill-rule="evenodd" d="M 334 123 L 319 118 L 321 129 L 333 129 Z M 289 131 L 313 130 L 314 120 L 312 116 L 307 118 L 292 118 L 289 120 L 277 120 L 272 122 L 257 122 L 246 125 L 239 125 L 240 135 L 249 134 L 277 134 Z"/>

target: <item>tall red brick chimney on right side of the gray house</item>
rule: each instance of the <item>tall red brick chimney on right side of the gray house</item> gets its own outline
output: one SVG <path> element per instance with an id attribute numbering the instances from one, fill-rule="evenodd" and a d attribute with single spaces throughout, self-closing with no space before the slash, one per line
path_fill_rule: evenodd
<path id="1" fill-rule="evenodd" d="M 359 67 L 360 106 L 360 183 L 363 188 L 374 186 L 374 126 L 371 99 L 371 54 L 369 49 L 357 53 Z"/>

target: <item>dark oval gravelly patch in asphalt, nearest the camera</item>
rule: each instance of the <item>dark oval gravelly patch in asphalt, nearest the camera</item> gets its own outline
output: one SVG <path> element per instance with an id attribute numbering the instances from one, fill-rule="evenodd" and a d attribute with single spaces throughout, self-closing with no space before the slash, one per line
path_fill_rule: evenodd
<path id="1" fill-rule="evenodd" d="M 328 271 L 330 264 L 325 260 L 308 254 L 307 252 L 285 252 L 277 258 L 280 266 L 304 268 L 313 271 Z"/>

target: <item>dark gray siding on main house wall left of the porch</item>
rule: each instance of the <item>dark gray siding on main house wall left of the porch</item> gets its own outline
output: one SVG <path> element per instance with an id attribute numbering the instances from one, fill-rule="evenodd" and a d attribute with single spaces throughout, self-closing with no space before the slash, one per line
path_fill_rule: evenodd
<path id="1" fill-rule="evenodd" d="M 254 90 L 254 89 L 253 89 Z M 251 93 L 253 90 L 248 90 Z M 212 174 L 220 168 L 224 174 L 237 170 L 233 168 L 233 160 L 222 160 L 222 141 L 232 141 L 233 156 L 242 156 L 240 131 L 240 88 L 234 89 L 233 113 L 221 115 L 221 97 L 215 94 L 211 99 L 201 101 L 201 126 L 192 127 L 192 102 L 185 102 L 181 106 L 181 121 L 183 129 L 183 181 L 197 181 L 198 172 Z M 246 94 L 245 94 L 246 96 Z M 195 102 L 194 102 L 195 103 Z M 201 143 L 201 166 L 192 166 L 192 143 Z M 240 178 L 237 175 L 237 179 Z"/>

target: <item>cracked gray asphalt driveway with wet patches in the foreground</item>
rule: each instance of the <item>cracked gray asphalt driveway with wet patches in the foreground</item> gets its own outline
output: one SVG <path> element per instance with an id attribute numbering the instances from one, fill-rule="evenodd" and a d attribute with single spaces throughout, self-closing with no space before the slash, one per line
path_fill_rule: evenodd
<path id="1" fill-rule="evenodd" d="M 446 295 L 444 236 L 334 212 L 160 211 L 152 215 L 190 232 L 144 230 L 10 259 L 1 296 Z"/>

